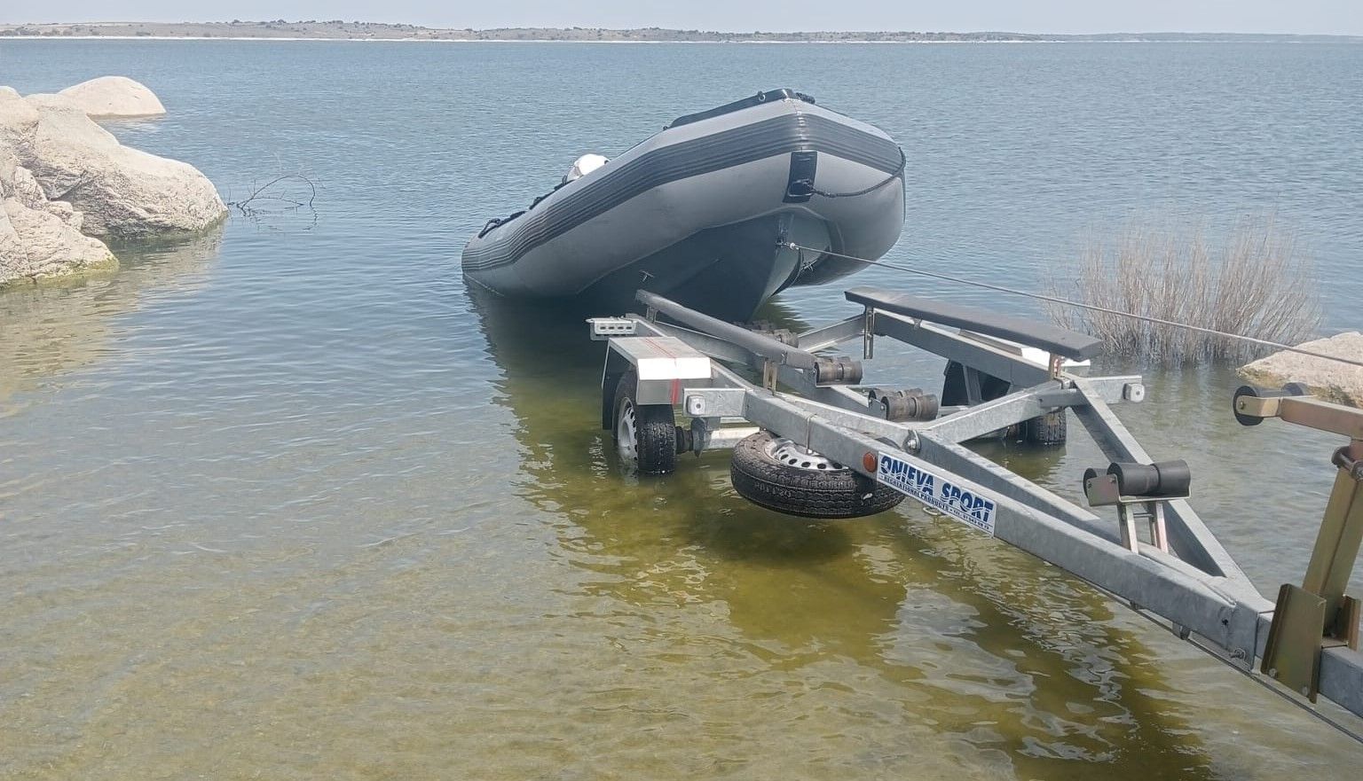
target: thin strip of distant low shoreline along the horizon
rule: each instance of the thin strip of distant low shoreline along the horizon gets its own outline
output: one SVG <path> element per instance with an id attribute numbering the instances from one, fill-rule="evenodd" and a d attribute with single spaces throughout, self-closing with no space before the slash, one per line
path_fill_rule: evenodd
<path id="1" fill-rule="evenodd" d="M 438 29 L 376 22 L 80 22 L 63 24 L 0 23 L 4 39 L 138 39 L 138 41 L 393 41 L 448 44 L 1363 44 L 1363 35 L 1296 35 L 1276 33 L 1033 33 L 808 31 L 718 33 L 642 27 L 504 27 Z"/>

